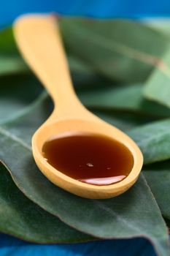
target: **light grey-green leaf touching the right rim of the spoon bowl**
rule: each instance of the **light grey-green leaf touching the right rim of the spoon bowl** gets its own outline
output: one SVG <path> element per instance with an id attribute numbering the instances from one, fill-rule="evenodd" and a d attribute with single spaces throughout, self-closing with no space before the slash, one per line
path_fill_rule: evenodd
<path id="1" fill-rule="evenodd" d="M 170 159 L 170 119 L 131 129 L 128 135 L 141 148 L 145 164 Z"/>

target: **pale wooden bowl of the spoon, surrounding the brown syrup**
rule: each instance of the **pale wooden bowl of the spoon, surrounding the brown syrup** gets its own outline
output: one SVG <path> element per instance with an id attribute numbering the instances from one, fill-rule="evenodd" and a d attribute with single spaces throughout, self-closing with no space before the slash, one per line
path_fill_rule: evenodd
<path id="1" fill-rule="evenodd" d="M 89 118 L 90 119 L 90 118 Z M 47 121 L 43 124 L 33 136 L 32 148 L 36 165 L 44 175 L 56 184 L 75 195 L 87 198 L 109 198 L 122 194 L 129 187 L 131 187 L 139 176 L 139 166 L 142 165 L 141 152 L 136 148 L 136 144 L 133 140 L 128 138 L 123 132 L 111 125 L 105 123 L 99 118 L 94 116 L 91 120 L 87 119 L 61 119 L 60 121 Z M 67 136 L 74 134 L 74 132 L 90 133 L 95 135 L 105 135 L 109 138 L 118 140 L 123 143 L 133 154 L 134 167 L 131 173 L 123 180 L 116 184 L 110 184 L 105 186 L 96 186 L 93 184 L 86 184 L 77 181 L 74 178 L 66 176 L 60 170 L 56 170 L 50 165 L 42 155 L 42 146 L 44 143 L 53 137 Z"/>

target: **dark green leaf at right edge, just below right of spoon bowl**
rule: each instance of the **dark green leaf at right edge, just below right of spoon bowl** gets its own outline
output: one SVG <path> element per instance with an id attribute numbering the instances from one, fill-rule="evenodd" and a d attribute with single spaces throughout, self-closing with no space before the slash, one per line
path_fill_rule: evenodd
<path id="1" fill-rule="evenodd" d="M 144 167 L 144 176 L 161 208 L 163 217 L 170 220 L 170 162 L 160 162 Z"/>

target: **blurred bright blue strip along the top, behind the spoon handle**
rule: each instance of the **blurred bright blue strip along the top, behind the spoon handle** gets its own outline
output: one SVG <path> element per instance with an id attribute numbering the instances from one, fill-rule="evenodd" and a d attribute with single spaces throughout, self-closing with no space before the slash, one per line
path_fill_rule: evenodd
<path id="1" fill-rule="evenodd" d="M 25 12 L 108 17 L 169 17 L 169 0 L 1 0 L 0 25 Z"/>

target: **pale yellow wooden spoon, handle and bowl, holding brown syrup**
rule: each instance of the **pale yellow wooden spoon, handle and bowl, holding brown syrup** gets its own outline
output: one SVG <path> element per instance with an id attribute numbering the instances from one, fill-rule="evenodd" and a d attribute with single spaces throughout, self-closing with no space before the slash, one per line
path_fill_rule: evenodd
<path id="1" fill-rule="evenodd" d="M 53 15 L 23 15 L 14 23 L 14 34 L 23 58 L 42 81 L 55 103 L 50 118 L 32 138 L 34 159 L 39 170 L 53 184 L 81 197 L 109 198 L 125 192 L 139 176 L 143 163 L 142 153 L 125 133 L 94 116 L 77 99 L 57 19 Z M 53 135 L 75 131 L 106 135 L 123 143 L 134 157 L 131 173 L 116 184 L 96 186 L 77 181 L 56 170 L 42 156 L 42 146 Z"/>

